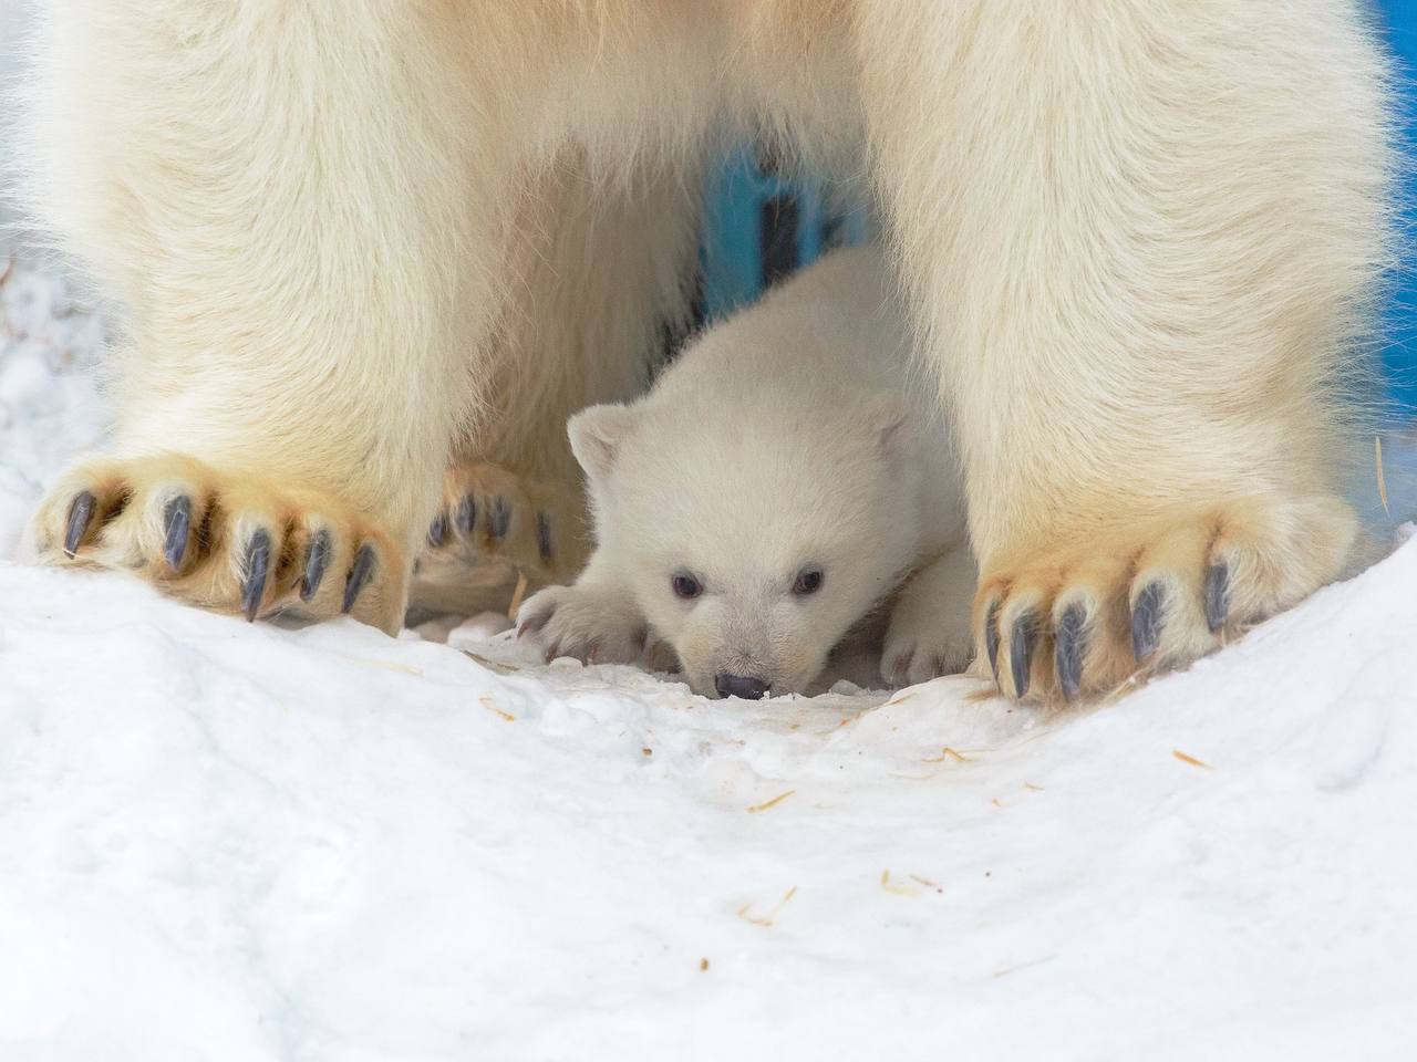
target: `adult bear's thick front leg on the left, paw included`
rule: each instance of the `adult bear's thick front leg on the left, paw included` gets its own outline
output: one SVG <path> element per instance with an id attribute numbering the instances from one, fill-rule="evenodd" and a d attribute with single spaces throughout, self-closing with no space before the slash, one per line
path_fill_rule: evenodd
<path id="1" fill-rule="evenodd" d="M 445 17 L 57 6 L 35 193 L 128 317 L 115 452 L 54 486 L 44 556 L 398 627 L 512 176 Z"/>

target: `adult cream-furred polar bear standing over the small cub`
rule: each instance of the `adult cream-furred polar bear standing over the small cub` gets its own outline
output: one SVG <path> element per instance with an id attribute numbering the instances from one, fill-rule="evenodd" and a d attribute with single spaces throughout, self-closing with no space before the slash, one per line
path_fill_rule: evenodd
<path id="1" fill-rule="evenodd" d="M 449 460 L 458 490 L 478 453 L 575 511 L 561 425 L 639 387 L 684 310 L 694 176 L 765 132 L 877 200 L 1003 691 L 1046 695 L 1061 650 L 1091 690 L 1136 650 L 1189 660 L 1353 549 L 1332 385 L 1394 169 L 1363 17 L 57 1 L 31 188 L 129 319 L 116 455 L 61 479 L 37 541 L 214 607 L 393 629 Z"/>

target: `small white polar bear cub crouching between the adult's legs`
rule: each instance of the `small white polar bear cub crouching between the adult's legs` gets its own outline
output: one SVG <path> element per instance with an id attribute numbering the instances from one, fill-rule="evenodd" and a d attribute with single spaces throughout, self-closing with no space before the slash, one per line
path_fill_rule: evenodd
<path id="1" fill-rule="evenodd" d="M 961 670 L 976 571 L 937 394 L 880 251 L 829 255 L 571 418 L 597 545 L 520 633 L 598 663 L 666 641 L 696 692 L 758 698 L 888 607 L 887 683 Z"/>

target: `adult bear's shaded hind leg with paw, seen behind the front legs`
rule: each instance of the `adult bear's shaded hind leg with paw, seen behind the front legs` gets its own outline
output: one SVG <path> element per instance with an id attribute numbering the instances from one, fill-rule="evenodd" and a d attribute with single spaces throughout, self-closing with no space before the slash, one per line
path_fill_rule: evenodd
<path id="1" fill-rule="evenodd" d="M 686 156 L 597 181 L 568 150 L 517 210 L 487 416 L 453 455 L 412 606 L 506 610 L 575 579 L 589 548 L 567 419 L 642 394 L 689 324 L 701 174 Z M 527 371 L 529 365 L 537 371 Z"/>

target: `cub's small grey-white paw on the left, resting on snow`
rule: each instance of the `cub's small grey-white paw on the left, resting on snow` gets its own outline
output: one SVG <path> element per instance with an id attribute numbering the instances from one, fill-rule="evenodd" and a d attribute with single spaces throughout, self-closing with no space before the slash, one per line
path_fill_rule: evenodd
<path id="1" fill-rule="evenodd" d="M 635 664 L 646 653 L 649 627 L 622 595 L 591 586 L 547 586 L 517 612 L 517 637 L 533 636 L 547 663 L 575 657 L 587 664 Z"/>

